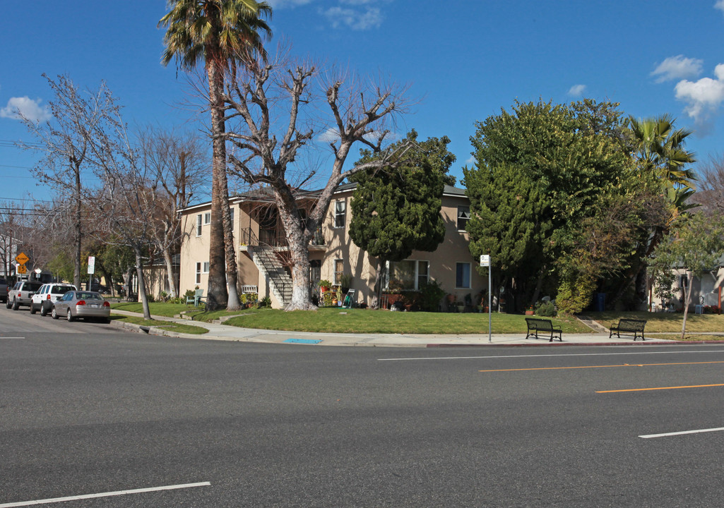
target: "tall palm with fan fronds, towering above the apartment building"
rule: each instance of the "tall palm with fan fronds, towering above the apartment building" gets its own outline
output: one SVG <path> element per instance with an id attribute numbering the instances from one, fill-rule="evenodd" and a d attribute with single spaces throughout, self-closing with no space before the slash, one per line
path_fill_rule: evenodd
<path id="1" fill-rule="evenodd" d="M 209 82 L 211 109 L 211 238 L 209 242 L 209 310 L 236 308 L 237 266 L 229 211 L 229 187 L 224 142 L 224 72 L 230 64 L 254 55 L 266 55 L 263 38 L 271 37 L 264 17 L 271 17 L 266 1 L 256 0 L 168 0 L 169 13 L 159 27 L 166 27 L 166 50 L 161 62 L 176 59 L 180 67 L 192 69 L 203 60 Z M 224 273 L 224 260 L 226 273 Z M 228 288 L 227 288 L 228 277 Z"/>

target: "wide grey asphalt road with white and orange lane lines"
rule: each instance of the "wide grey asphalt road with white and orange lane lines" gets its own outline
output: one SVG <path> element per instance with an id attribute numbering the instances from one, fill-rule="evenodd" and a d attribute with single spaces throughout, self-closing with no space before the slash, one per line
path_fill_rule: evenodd
<path id="1" fill-rule="evenodd" d="M 724 431 L 640 436 L 723 428 L 723 374 L 721 345 L 212 342 L 0 308 L 0 508 L 717 507 Z"/>

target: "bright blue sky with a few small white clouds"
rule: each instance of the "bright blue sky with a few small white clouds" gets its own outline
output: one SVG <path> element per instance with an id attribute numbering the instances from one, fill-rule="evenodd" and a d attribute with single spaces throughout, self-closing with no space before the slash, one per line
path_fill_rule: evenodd
<path id="1" fill-rule="evenodd" d="M 294 54 L 408 84 L 416 103 L 399 135 L 450 137 L 458 178 L 475 122 L 516 98 L 609 99 L 635 117 L 670 113 L 696 131 L 687 146 L 700 161 L 724 153 L 724 0 L 269 3 L 272 44 L 285 38 Z M 38 157 L 12 146 L 33 140 L 14 108 L 42 117 L 51 99 L 43 72 L 82 88 L 105 80 L 130 124 L 199 128 L 179 106 L 193 93 L 187 81 L 160 64 L 165 12 L 164 0 L 3 2 L 0 200 L 49 196 L 32 178 Z"/>

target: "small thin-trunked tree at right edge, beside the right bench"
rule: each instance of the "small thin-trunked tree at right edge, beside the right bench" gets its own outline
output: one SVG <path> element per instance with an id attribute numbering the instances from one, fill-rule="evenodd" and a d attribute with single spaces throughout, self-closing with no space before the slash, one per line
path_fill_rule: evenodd
<path id="1" fill-rule="evenodd" d="M 714 268 L 723 253 L 724 220 L 704 213 L 678 216 L 670 234 L 654 250 L 652 268 L 655 278 L 665 278 L 674 268 L 683 268 L 687 273 L 688 283 L 683 287 L 682 340 L 691 305 L 691 282 L 694 277 L 701 277 Z"/>

